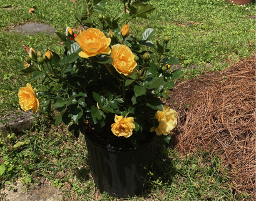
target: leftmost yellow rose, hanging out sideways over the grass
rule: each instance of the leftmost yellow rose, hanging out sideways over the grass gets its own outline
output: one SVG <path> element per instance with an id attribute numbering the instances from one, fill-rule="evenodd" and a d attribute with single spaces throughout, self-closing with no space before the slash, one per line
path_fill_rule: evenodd
<path id="1" fill-rule="evenodd" d="M 26 87 L 20 87 L 18 96 L 21 109 L 25 112 L 32 109 L 34 114 L 38 111 L 39 101 L 36 98 L 36 93 L 34 89 L 32 89 L 31 84 L 28 83 Z"/>

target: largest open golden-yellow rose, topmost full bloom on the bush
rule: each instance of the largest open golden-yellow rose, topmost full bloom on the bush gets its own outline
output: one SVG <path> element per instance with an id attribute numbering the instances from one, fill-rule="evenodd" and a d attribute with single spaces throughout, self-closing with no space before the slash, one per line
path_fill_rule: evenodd
<path id="1" fill-rule="evenodd" d="M 83 58 L 93 57 L 98 54 L 110 54 L 111 39 L 106 37 L 100 29 L 90 28 L 81 32 L 74 39 L 78 42 L 83 51 L 79 52 L 79 56 Z"/>

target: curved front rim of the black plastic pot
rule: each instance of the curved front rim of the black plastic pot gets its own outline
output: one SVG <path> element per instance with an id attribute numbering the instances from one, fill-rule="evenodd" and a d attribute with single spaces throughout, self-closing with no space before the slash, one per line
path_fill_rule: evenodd
<path id="1" fill-rule="evenodd" d="M 84 134 L 84 136 L 90 140 L 90 142 L 98 147 L 100 147 L 101 149 L 106 149 L 106 150 L 110 150 L 110 151 L 118 151 L 118 152 L 129 152 L 129 151 L 134 151 L 134 150 L 139 150 L 142 149 L 143 147 L 145 147 L 146 145 L 151 144 L 158 135 L 154 135 L 150 140 L 148 140 L 148 142 L 146 142 L 146 144 L 141 145 L 138 148 L 134 148 L 134 147 L 130 147 L 130 148 L 120 148 L 120 147 L 113 147 L 110 145 L 105 145 L 105 144 L 100 144 L 98 142 L 96 142 L 95 140 L 91 139 L 88 135 Z"/>

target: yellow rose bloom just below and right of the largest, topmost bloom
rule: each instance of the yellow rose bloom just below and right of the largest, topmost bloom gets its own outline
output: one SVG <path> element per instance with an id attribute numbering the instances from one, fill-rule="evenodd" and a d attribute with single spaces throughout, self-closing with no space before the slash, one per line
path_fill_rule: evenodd
<path id="1" fill-rule="evenodd" d="M 129 77 L 135 72 L 135 67 L 137 66 L 136 61 L 134 61 L 135 55 L 128 46 L 120 44 L 112 46 L 110 57 L 113 59 L 111 64 L 119 73 Z"/>

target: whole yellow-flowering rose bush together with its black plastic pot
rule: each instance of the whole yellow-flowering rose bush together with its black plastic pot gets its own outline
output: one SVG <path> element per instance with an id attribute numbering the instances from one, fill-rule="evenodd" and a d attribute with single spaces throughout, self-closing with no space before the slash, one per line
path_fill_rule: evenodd
<path id="1" fill-rule="evenodd" d="M 31 48 L 21 74 L 42 79 L 47 91 L 36 92 L 30 84 L 19 89 L 19 104 L 26 110 L 52 106 L 59 111 L 55 125 L 63 122 L 76 137 L 83 134 L 88 147 L 96 186 L 116 197 L 139 194 L 146 187 L 147 169 L 155 160 L 156 137 L 169 142 L 177 125 L 177 112 L 162 104 L 182 71 L 169 71 L 177 64 L 170 54 L 168 36 L 160 43 L 150 41 L 155 29 L 141 37 L 130 33 L 135 17 L 146 18 L 155 10 L 141 1 L 128 3 L 129 14 L 115 18 L 92 15 L 103 12 L 105 0 L 88 2 L 76 14 L 83 31 L 71 27 L 64 54 L 46 54 Z M 56 82 L 61 89 L 55 89 Z"/>

